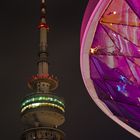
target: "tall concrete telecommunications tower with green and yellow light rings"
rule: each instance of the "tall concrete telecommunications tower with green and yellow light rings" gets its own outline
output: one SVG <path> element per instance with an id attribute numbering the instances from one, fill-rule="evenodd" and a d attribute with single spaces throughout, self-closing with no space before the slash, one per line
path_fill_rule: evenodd
<path id="1" fill-rule="evenodd" d="M 65 121 L 64 100 L 53 91 L 58 80 L 48 72 L 46 0 L 41 0 L 40 49 L 38 73 L 32 76 L 28 87 L 33 91 L 21 103 L 21 120 L 25 125 L 22 140 L 63 140 L 64 133 L 58 129 Z"/>

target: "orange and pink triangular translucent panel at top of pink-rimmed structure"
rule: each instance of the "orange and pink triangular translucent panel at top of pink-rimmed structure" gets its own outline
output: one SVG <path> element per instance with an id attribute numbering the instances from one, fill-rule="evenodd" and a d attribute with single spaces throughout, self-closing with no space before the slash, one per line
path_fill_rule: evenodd
<path id="1" fill-rule="evenodd" d="M 140 20 L 125 0 L 113 0 L 101 18 L 101 22 L 140 26 Z"/>

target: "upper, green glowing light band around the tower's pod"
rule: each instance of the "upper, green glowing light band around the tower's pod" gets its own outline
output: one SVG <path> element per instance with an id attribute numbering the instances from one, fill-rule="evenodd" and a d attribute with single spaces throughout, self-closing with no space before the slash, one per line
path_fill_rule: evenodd
<path id="1" fill-rule="evenodd" d="M 63 107 L 65 107 L 64 103 L 59 101 L 58 99 L 52 98 L 52 97 L 45 97 L 45 96 L 37 96 L 37 97 L 33 97 L 31 99 L 28 99 L 22 103 L 21 107 L 26 106 L 29 103 L 33 103 L 33 102 L 37 102 L 37 101 L 55 102 L 55 103 L 58 103 L 58 104 L 62 105 Z"/>

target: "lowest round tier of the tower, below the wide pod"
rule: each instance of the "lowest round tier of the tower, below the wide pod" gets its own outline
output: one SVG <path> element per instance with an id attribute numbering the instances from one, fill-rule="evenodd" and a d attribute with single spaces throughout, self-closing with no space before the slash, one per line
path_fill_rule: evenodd
<path id="1" fill-rule="evenodd" d="M 64 140 L 64 132 L 50 127 L 36 127 L 25 130 L 21 140 Z"/>

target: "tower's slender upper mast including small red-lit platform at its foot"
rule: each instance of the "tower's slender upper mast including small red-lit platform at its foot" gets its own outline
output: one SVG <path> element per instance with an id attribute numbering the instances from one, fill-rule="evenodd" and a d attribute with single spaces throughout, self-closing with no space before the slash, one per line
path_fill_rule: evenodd
<path id="1" fill-rule="evenodd" d="M 48 52 L 47 52 L 47 33 L 49 27 L 46 23 L 46 0 L 41 0 L 41 18 L 38 26 L 40 30 L 38 74 L 33 76 L 28 86 L 38 92 L 50 93 L 58 87 L 58 80 L 49 74 L 48 70 Z"/>

